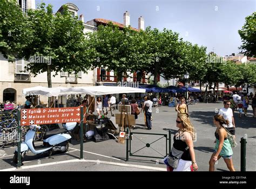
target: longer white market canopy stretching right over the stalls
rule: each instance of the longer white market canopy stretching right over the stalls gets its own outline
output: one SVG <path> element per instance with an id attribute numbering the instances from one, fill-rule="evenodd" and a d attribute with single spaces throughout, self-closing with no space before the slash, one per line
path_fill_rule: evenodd
<path id="1" fill-rule="evenodd" d="M 145 89 L 125 86 L 83 86 L 70 87 L 60 90 L 60 95 L 87 94 L 87 95 L 109 95 L 119 93 L 145 93 Z"/>

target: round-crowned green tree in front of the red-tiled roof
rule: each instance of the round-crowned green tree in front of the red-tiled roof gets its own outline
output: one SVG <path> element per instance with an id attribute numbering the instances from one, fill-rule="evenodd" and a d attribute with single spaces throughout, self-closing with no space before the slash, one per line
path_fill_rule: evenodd
<path id="1" fill-rule="evenodd" d="M 140 53 L 145 46 L 142 30 L 138 32 L 130 27 L 120 30 L 110 23 L 107 26 L 100 25 L 97 32 L 87 35 L 91 48 L 97 52 L 97 59 L 92 66 L 113 70 L 118 81 L 122 80 L 124 72 L 141 70 L 146 62 L 145 56 Z"/>

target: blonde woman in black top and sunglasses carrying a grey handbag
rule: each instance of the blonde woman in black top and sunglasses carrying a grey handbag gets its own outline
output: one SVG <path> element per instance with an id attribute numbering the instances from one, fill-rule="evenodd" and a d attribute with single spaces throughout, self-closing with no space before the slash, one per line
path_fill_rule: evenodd
<path id="1" fill-rule="evenodd" d="M 193 140 L 195 140 L 194 127 L 190 123 L 188 113 L 180 113 L 176 119 L 179 128 L 173 137 L 172 157 L 179 158 L 177 168 L 173 171 L 197 171 L 196 156 L 194 153 Z"/>

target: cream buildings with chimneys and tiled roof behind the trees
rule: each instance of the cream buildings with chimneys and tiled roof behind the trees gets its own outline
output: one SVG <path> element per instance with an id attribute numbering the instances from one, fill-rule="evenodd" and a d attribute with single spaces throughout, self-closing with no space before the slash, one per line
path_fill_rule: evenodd
<path id="1" fill-rule="evenodd" d="M 17 0 L 17 4 L 22 8 L 23 12 L 28 9 L 35 9 L 35 0 Z M 78 16 L 78 7 L 75 4 L 67 3 L 68 10 L 71 12 L 73 17 Z M 58 12 L 63 11 L 61 6 Z M 103 18 L 96 18 L 88 22 L 84 22 L 84 16 L 80 15 L 79 20 L 84 23 L 84 33 L 95 32 L 100 24 L 106 25 L 109 22 L 113 22 Z M 123 17 L 124 24 L 113 22 L 118 25 L 120 29 L 124 26 L 130 25 L 130 14 L 129 12 L 124 13 Z M 138 29 L 132 28 L 139 31 L 144 30 L 144 19 L 139 17 Z M 37 75 L 36 77 L 29 72 L 24 72 L 25 65 L 28 61 L 24 59 L 16 59 L 15 62 L 8 62 L 0 53 L 0 102 L 14 102 L 15 104 L 24 104 L 25 96 L 22 95 L 24 88 L 34 86 L 48 86 L 46 72 Z M 53 73 L 52 73 L 53 75 Z M 135 73 L 123 73 L 123 82 L 139 82 L 147 83 L 149 77 L 146 74 L 135 72 Z M 116 76 L 113 71 L 107 71 L 106 68 L 96 68 L 88 70 L 87 73 L 79 72 L 77 77 L 74 74 L 67 72 L 60 72 L 56 77 L 52 77 L 52 87 L 64 86 L 64 87 L 75 87 L 75 86 L 92 86 L 92 85 L 104 85 L 104 84 L 115 84 L 117 85 Z M 47 103 L 48 98 L 41 97 L 42 103 Z"/>

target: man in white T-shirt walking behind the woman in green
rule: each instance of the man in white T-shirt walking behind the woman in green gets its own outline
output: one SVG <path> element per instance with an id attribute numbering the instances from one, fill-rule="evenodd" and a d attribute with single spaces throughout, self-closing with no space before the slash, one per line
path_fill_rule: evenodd
<path id="1" fill-rule="evenodd" d="M 234 123 L 234 116 L 233 111 L 230 108 L 230 100 L 224 100 L 224 107 L 222 107 L 219 110 L 219 113 L 221 116 L 223 116 L 224 119 L 228 120 L 229 124 L 224 125 L 231 134 L 235 134 L 235 123 Z"/>

